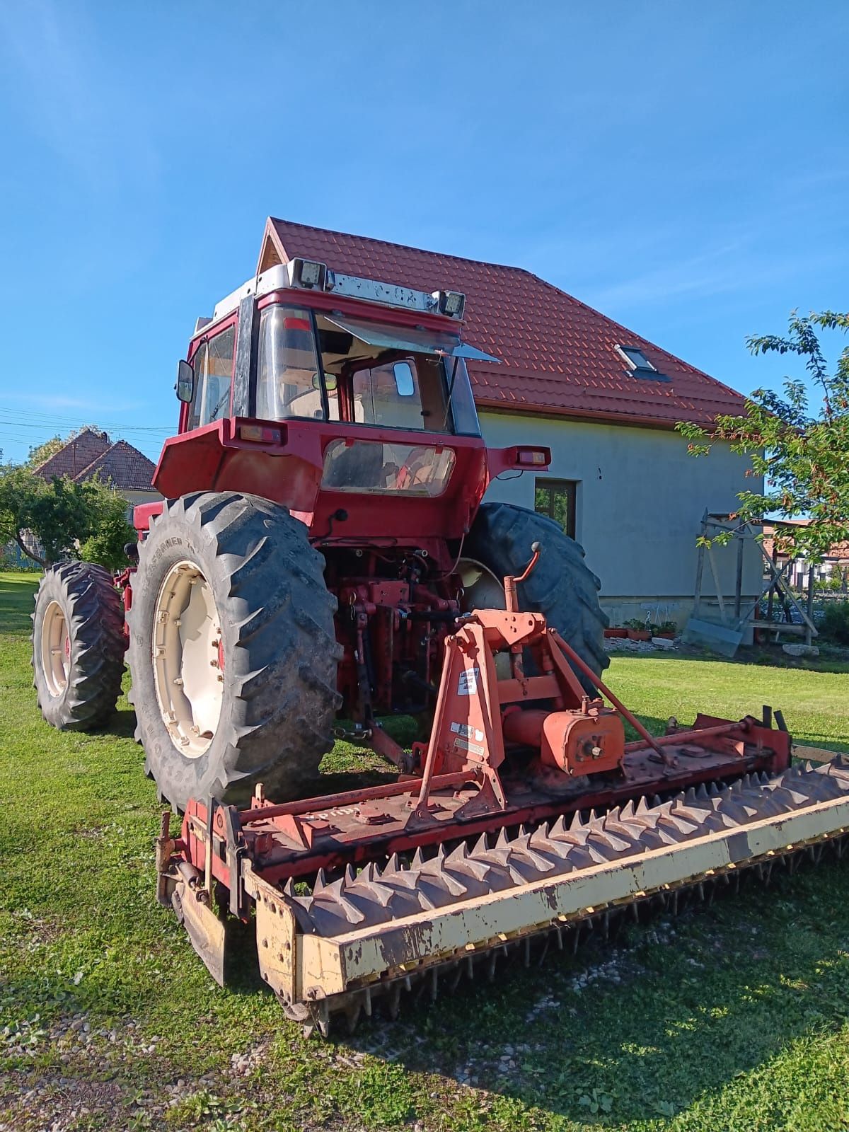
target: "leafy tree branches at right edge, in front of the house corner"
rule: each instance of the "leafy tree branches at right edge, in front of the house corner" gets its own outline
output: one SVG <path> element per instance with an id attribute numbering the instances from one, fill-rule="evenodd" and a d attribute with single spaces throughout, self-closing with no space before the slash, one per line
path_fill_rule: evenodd
<path id="1" fill-rule="evenodd" d="M 718 417 L 710 432 L 688 422 L 676 426 L 695 456 L 724 440 L 748 458 L 746 475 L 763 478 L 763 488 L 739 492 L 732 517 L 740 526 L 770 517 L 804 518 L 798 526 L 777 528 L 775 541 L 780 551 L 812 563 L 849 539 L 849 346 L 830 371 L 820 344 L 822 331 L 849 331 L 849 314 L 794 311 L 786 336 L 754 335 L 746 342 L 753 354 L 795 354 L 804 360 L 821 397 L 818 406 L 811 405 L 801 378 L 787 377 L 783 395 L 755 389 L 744 414 Z M 707 541 L 723 543 L 732 537 L 731 531 L 721 532 Z"/>

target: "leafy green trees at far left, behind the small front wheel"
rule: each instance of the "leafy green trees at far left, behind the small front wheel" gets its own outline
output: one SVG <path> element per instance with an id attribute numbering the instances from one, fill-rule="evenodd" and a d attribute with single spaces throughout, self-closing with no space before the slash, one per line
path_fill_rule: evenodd
<path id="1" fill-rule="evenodd" d="M 126 500 L 97 479 L 48 482 L 26 464 L 0 468 L 0 540 L 40 566 L 67 557 L 109 569 L 126 563 L 123 544 L 135 538 L 126 512 Z"/>

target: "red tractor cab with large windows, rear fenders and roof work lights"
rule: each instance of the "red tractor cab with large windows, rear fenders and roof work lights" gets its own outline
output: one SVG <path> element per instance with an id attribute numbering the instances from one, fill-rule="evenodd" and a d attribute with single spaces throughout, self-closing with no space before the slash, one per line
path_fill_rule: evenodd
<path id="1" fill-rule="evenodd" d="M 386 528 L 386 500 L 374 497 L 403 498 L 393 544 L 427 531 L 424 549 L 445 557 L 495 475 L 549 460 L 487 451 L 466 359 L 499 359 L 462 341 L 464 307 L 458 291 L 274 264 L 198 319 L 155 487 L 238 488 L 285 505 L 318 541 L 344 530 L 369 544 Z"/>

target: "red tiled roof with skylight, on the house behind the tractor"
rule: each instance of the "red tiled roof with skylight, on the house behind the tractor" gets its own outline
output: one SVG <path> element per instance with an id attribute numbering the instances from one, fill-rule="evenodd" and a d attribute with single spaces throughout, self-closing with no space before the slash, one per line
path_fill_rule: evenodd
<path id="1" fill-rule="evenodd" d="M 481 408 L 666 428 L 744 410 L 743 396 L 727 385 L 520 267 L 269 218 L 261 268 L 295 256 L 418 290 L 463 291 L 464 335 L 503 359 L 469 363 Z M 670 380 L 633 376 L 620 345 L 636 346 Z"/>

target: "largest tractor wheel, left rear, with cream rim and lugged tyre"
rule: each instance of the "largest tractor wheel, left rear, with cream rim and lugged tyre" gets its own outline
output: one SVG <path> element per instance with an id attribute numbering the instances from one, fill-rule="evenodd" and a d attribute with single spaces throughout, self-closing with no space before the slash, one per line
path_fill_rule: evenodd
<path id="1" fill-rule="evenodd" d="M 336 599 L 307 528 L 231 491 L 165 503 L 139 546 L 129 664 L 145 769 L 190 798 L 275 801 L 315 778 L 340 704 Z"/>

